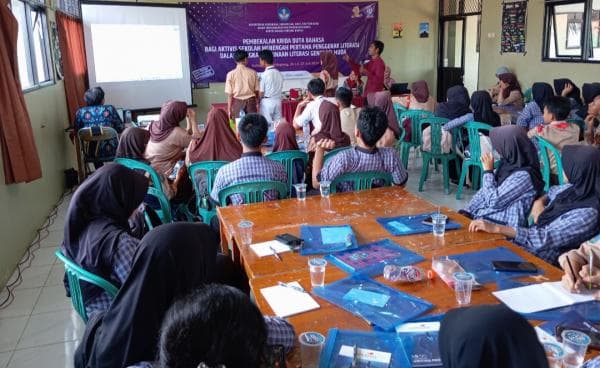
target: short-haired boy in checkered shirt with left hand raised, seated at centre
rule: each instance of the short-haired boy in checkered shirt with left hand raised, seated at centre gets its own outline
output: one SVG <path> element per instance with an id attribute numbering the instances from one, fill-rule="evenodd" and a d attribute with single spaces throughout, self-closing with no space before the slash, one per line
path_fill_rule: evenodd
<path id="1" fill-rule="evenodd" d="M 390 173 L 394 185 L 404 185 L 408 180 L 408 173 L 402 166 L 398 151 L 394 148 L 376 146 L 386 129 L 387 116 L 380 108 L 363 108 L 354 132 L 356 146 L 333 156 L 325 165 L 323 165 L 325 151 L 333 148 L 335 142 L 330 139 L 320 140 L 313 161 L 313 187 L 318 188 L 322 180 L 333 181 L 340 175 L 365 171 Z M 351 191 L 352 183 L 342 183 L 340 189 Z"/>

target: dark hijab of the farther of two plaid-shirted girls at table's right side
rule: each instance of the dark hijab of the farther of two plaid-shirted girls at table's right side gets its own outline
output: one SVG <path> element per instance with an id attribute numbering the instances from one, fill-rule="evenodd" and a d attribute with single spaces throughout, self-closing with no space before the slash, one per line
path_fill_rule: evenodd
<path id="1" fill-rule="evenodd" d="M 537 150 L 520 126 L 506 125 L 492 129 L 492 147 L 502 156 L 496 170 L 498 186 L 517 171 L 526 171 L 538 195 L 544 190 Z"/>

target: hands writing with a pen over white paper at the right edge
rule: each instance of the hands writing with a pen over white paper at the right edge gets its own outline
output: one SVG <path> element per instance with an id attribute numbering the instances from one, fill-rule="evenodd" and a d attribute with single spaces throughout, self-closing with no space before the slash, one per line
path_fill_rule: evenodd
<path id="1" fill-rule="evenodd" d="M 567 257 L 569 257 L 568 261 Z M 593 258 L 591 274 L 590 257 Z M 581 244 L 578 249 L 562 254 L 558 257 L 558 264 L 565 271 L 562 277 L 565 289 L 578 293 L 587 289 L 590 283 L 594 289 L 597 289 L 600 286 L 600 234 Z M 570 267 L 573 267 L 575 279 L 573 279 Z M 596 295 L 598 297 L 600 293 L 597 291 Z"/>

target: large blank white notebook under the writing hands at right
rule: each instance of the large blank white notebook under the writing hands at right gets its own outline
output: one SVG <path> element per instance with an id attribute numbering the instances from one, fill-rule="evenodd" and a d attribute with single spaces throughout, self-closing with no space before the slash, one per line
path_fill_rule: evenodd
<path id="1" fill-rule="evenodd" d="M 594 300 L 593 293 L 573 294 L 566 291 L 560 281 L 494 291 L 492 294 L 518 313 L 540 312 Z"/>

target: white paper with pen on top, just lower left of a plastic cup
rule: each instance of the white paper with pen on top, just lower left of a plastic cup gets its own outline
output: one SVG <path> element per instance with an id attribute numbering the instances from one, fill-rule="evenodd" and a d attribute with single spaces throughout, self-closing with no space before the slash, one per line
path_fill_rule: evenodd
<path id="1" fill-rule="evenodd" d="M 290 286 L 302 288 L 294 281 L 287 283 Z M 277 317 L 288 317 L 294 314 L 318 309 L 319 304 L 307 292 L 301 292 L 284 286 L 271 286 L 261 289 L 260 292 L 269 303 Z"/>

